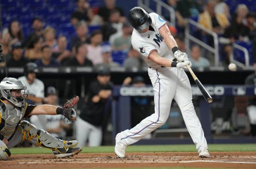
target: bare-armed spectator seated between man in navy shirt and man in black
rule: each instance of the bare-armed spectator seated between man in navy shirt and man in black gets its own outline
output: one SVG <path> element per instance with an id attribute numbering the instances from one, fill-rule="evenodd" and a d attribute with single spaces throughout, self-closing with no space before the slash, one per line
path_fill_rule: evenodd
<path id="1" fill-rule="evenodd" d="M 71 52 L 67 50 L 67 38 L 60 35 L 57 39 L 57 46 L 53 51 L 53 58 L 57 61 L 64 63 L 71 56 Z"/>

